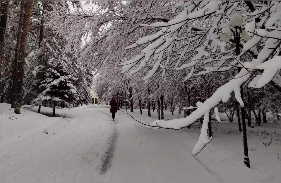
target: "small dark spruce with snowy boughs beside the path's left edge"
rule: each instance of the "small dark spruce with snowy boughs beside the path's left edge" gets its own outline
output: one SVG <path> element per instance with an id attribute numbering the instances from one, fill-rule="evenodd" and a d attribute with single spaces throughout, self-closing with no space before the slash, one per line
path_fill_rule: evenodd
<path id="1" fill-rule="evenodd" d="M 74 80 L 75 78 L 68 72 L 63 61 L 58 60 L 51 63 L 46 72 L 46 79 L 40 86 L 44 91 L 37 96 L 32 105 L 42 105 L 44 102 L 53 103 L 54 117 L 56 105 L 64 105 L 69 108 L 69 104 L 75 103 L 77 100 L 76 87 L 72 84 Z"/>

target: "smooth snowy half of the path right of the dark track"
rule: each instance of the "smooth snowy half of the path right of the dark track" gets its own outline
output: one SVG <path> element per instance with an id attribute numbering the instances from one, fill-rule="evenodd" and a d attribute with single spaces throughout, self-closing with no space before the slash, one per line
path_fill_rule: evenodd
<path id="1" fill-rule="evenodd" d="M 151 130 L 117 113 L 119 138 L 108 182 L 221 182 L 172 131 Z"/>

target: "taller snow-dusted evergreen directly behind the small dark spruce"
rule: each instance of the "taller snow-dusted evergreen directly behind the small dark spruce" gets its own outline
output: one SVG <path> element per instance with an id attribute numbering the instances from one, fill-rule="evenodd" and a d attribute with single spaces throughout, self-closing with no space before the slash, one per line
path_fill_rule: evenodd
<path id="1" fill-rule="evenodd" d="M 64 41 L 60 36 L 54 36 L 46 30 L 46 38 L 40 43 L 40 48 L 31 52 L 26 59 L 25 80 L 24 80 L 24 102 L 30 104 L 41 92 L 40 83 L 46 79 L 46 71 L 49 64 L 61 59 L 66 63 L 71 73 L 74 73 L 73 66 L 70 64 L 70 56 L 64 55 Z M 76 76 L 75 76 L 76 77 Z M 39 106 L 40 109 L 40 106 Z M 38 110 L 40 113 L 40 110 Z"/>

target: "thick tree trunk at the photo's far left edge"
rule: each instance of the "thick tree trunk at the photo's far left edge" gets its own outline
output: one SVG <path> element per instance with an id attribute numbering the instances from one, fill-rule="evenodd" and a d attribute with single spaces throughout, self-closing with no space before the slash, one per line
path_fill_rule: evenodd
<path id="1" fill-rule="evenodd" d="M 8 13 L 9 13 L 10 1 L 5 1 L 1 3 L 0 8 L 0 71 L 2 66 L 2 59 L 4 54 L 4 39 L 5 30 L 7 25 Z"/>

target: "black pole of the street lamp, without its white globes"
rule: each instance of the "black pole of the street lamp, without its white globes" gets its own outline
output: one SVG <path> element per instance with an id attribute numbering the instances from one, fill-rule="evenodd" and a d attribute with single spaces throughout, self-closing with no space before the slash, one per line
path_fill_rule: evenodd
<path id="1" fill-rule="evenodd" d="M 234 27 L 236 30 L 236 34 L 234 35 L 234 41 L 236 45 L 236 56 L 240 55 L 240 31 L 238 31 L 239 27 Z M 238 72 L 240 72 L 241 67 L 238 68 Z M 242 101 L 244 102 L 244 94 L 243 94 L 243 86 L 240 85 L 240 95 Z M 241 120 L 242 120 L 242 134 L 243 134 L 243 146 L 244 146 L 244 163 L 245 165 L 250 168 L 250 158 L 248 153 L 248 143 L 247 143 L 247 131 L 246 131 L 246 120 L 245 120 L 245 108 L 240 107 L 241 109 Z"/>

